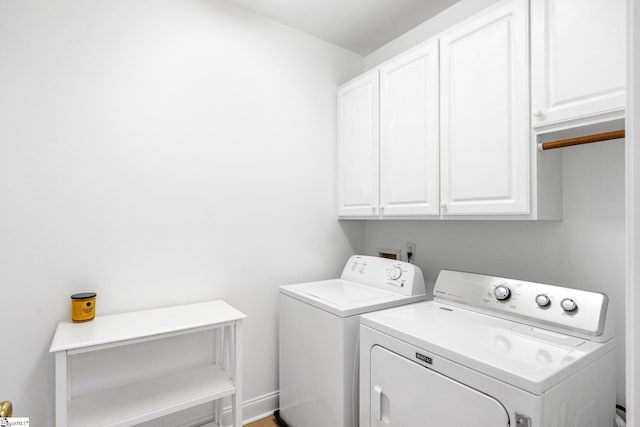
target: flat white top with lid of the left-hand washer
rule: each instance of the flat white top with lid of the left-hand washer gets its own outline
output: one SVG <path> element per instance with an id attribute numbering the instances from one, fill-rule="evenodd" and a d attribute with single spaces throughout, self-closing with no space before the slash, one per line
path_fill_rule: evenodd
<path id="1" fill-rule="evenodd" d="M 285 285 L 280 293 L 340 317 L 424 300 L 425 295 L 405 296 L 359 283 L 334 279 Z"/>

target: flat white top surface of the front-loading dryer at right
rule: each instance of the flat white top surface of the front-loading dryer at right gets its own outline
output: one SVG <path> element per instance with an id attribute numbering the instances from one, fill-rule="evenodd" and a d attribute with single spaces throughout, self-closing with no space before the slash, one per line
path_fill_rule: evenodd
<path id="1" fill-rule="evenodd" d="M 366 314 L 361 324 L 540 395 L 614 349 L 435 301 Z"/>

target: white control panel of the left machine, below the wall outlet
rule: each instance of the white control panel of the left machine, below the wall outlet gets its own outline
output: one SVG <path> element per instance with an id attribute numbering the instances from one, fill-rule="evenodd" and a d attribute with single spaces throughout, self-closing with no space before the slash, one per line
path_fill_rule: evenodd
<path id="1" fill-rule="evenodd" d="M 354 255 L 347 261 L 340 278 L 407 296 L 425 294 L 422 270 L 403 261 Z"/>

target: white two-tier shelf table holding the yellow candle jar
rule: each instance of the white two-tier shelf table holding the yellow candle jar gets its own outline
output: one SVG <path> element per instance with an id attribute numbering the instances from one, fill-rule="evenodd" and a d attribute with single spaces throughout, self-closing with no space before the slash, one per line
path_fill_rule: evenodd
<path id="1" fill-rule="evenodd" d="M 101 316 L 82 324 L 60 322 L 50 350 L 56 355 L 56 427 L 125 427 L 206 402 L 217 402 L 216 425 L 221 424 L 220 399 L 225 397 L 231 397 L 234 426 L 239 427 L 241 321 L 245 317 L 218 300 Z M 71 398 L 74 378 L 67 365 L 74 354 L 210 329 L 219 330 L 213 335 L 214 341 L 222 344 L 221 351 L 214 352 L 210 365 Z"/>

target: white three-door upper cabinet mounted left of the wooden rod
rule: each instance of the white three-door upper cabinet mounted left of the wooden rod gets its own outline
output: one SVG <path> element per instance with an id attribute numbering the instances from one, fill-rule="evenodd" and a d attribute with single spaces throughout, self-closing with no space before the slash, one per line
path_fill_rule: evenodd
<path id="1" fill-rule="evenodd" d="M 529 52 L 529 1 L 503 0 L 341 86 L 338 216 L 559 219 Z"/>

